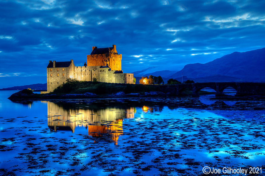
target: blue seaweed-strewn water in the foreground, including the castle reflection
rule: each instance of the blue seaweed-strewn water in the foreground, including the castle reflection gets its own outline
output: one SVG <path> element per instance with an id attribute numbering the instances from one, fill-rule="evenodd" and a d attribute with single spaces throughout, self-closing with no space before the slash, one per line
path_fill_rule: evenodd
<path id="1" fill-rule="evenodd" d="M 0 92 L 0 175 L 265 173 L 264 100 L 10 101 L 11 93 Z"/>

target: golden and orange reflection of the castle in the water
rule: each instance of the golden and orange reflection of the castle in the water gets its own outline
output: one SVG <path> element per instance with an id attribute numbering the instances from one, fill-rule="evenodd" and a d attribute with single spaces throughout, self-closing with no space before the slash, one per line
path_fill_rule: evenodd
<path id="1" fill-rule="evenodd" d="M 126 107 L 93 108 L 80 103 L 47 103 L 48 127 L 54 131 L 67 130 L 74 133 L 75 128 L 85 127 L 92 137 L 109 134 L 117 145 L 118 138 L 123 134 L 122 121 L 124 118 L 134 118 L 136 109 Z"/>

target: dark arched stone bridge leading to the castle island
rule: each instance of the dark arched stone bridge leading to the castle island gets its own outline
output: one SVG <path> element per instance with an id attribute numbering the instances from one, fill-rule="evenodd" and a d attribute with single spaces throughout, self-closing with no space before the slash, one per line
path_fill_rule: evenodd
<path id="1" fill-rule="evenodd" d="M 265 83 L 256 82 L 202 82 L 190 84 L 173 84 L 160 86 L 164 93 L 181 95 L 184 89 L 192 91 L 192 97 L 199 97 L 199 91 L 203 88 L 212 88 L 216 91 L 216 97 L 226 96 L 223 90 L 232 87 L 236 90 L 235 96 L 263 95 L 265 96 Z"/>

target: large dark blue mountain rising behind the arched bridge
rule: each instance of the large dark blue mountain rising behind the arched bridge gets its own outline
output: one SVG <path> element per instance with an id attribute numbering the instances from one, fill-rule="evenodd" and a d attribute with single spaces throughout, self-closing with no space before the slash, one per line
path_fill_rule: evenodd
<path id="1" fill-rule="evenodd" d="M 265 81 L 265 48 L 247 51 L 243 53 L 234 52 L 215 59 L 206 64 L 188 64 L 168 78 L 180 78 L 181 73 L 191 79 L 203 82 L 209 78 L 221 81 L 244 80 L 250 82 Z"/>

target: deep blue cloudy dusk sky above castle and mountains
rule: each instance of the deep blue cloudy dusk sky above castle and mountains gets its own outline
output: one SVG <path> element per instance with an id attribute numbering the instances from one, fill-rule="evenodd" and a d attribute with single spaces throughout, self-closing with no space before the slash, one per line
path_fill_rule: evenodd
<path id="1" fill-rule="evenodd" d="M 264 0 L 1 0 L 0 88 L 46 83 L 49 60 L 116 45 L 123 72 L 179 71 L 265 47 Z"/>

